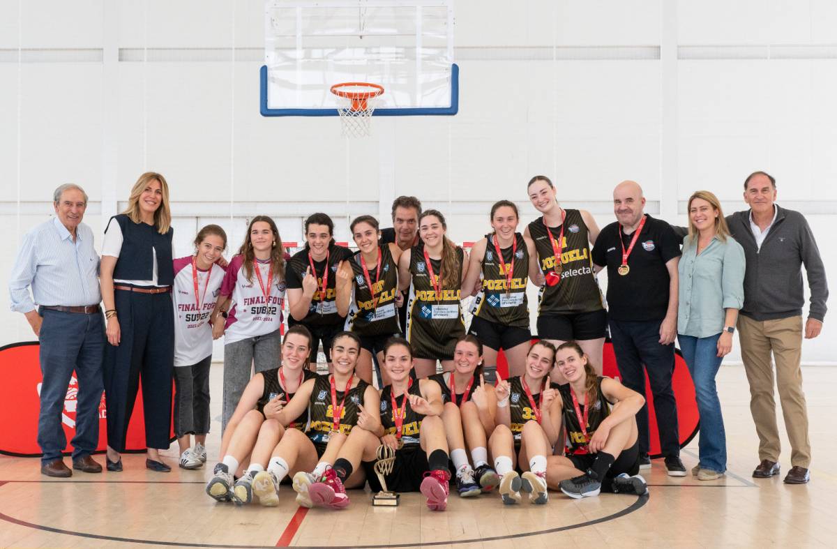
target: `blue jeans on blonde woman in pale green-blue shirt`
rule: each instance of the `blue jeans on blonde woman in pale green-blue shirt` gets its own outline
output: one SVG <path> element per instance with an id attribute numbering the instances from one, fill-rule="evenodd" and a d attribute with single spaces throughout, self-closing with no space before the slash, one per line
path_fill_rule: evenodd
<path id="1" fill-rule="evenodd" d="M 727 434 L 715 385 L 715 376 L 723 360 L 723 357 L 717 356 L 720 337 L 720 333 L 709 337 L 677 334 L 680 351 L 695 382 L 697 411 L 701 414 L 701 439 L 698 443 L 701 467 L 723 473 L 727 470 Z"/>

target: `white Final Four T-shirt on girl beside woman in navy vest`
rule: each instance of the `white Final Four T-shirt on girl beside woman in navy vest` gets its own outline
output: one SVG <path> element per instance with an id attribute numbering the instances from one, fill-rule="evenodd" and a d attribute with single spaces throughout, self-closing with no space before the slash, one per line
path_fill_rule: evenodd
<path id="1" fill-rule="evenodd" d="M 195 299 L 192 273 L 191 255 L 174 260 L 172 303 L 175 366 L 192 366 L 212 355 L 212 326 L 209 324 L 209 316 L 212 315 L 221 293 L 224 273 L 217 264 L 213 264 L 209 270 L 198 269 L 198 300 Z"/>

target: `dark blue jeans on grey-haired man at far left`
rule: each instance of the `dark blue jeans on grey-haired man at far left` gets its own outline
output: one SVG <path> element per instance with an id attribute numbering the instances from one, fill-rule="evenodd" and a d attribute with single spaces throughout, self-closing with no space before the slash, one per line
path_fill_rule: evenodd
<path id="1" fill-rule="evenodd" d="M 42 309 L 40 331 L 41 409 L 38 445 L 41 463 L 59 459 L 67 446 L 61 427 L 69 378 L 75 371 L 79 393 L 75 402 L 73 459 L 95 452 L 99 445 L 99 403 L 102 396 L 102 358 L 105 323 L 101 312 L 91 315 Z M 70 401 L 68 401 L 70 402 Z"/>

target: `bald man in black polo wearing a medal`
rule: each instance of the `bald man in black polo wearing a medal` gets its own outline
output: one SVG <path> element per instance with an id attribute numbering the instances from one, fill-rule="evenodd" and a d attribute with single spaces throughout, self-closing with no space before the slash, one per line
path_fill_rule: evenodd
<path id="1" fill-rule="evenodd" d="M 643 365 L 654 393 L 660 447 L 671 476 L 686 476 L 680 461 L 677 405 L 671 387 L 677 335 L 677 262 L 680 240 L 669 223 L 643 212 L 636 182 L 614 189 L 617 222 L 598 234 L 593 263 L 608 268 L 608 322 L 625 387 L 645 394 Z M 639 465 L 650 467 L 648 408 L 636 414 Z"/>

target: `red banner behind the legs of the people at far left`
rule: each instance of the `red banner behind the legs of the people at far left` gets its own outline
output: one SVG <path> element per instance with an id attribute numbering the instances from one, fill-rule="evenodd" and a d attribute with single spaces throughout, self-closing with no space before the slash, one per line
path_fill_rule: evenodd
<path id="1" fill-rule="evenodd" d="M 41 367 L 39 363 L 38 341 L 13 343 L 0 347 L 0 453 L 39 456 L 38 413 L 40 409 Z M 64 454 L 70 454 L 73 446 L 70 441 L 75 434 L 75 405 L 79 393 L 79 382 L 73 374 L 64 398 L 61 410 L 61 425 L 67 436 L 67 448 Z M 173 393 L 172 393 L 173 394 Z M 99 403 L 99 445 L 104 450 L 107 445 L 107 410 L 105 395 Z M 172 440 L 174 432 L 172 430 Z M 146 428 L 142 414 L 142 392 L 136 395 L 136 405 L 128 425 L 126 439 L 127 451 L 146 449 Z"/>

